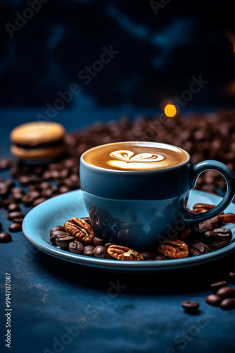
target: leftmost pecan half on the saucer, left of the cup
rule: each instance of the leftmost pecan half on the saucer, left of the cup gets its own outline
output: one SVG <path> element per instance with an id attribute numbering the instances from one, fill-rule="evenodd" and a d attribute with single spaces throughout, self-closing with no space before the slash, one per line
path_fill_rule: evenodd
<path id="1" fill-rule="evenodd" d="M 70 220 L 65 222 L 65 231 L 85 245 L 91 244 L 94 239 L 94 230 L 82 218 L 70 218 Z"/>

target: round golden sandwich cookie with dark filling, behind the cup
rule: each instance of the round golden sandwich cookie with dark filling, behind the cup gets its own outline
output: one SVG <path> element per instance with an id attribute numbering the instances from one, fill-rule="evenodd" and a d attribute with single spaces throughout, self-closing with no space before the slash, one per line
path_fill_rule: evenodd
<path id="1" fill-rule="evenodd" d="M 50 160 L 65 152 L 65 129 L 49 121 L 32 121 L 11 131 L 11 152 L 23 160 Z"/>

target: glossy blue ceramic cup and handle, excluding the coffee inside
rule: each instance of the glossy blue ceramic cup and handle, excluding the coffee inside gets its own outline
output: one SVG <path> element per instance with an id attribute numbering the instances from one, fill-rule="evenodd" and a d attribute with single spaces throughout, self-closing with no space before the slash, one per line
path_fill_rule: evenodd
<path id="1" fill-rule="evenodd" d="M 145 141 L 128 143 L 135 143 L 140 148 L 177 148 Z M 118 143 L 108 145 L 118 148 Z M 154 244 L 170 229 L 177 236 L 186 225 L 208 220 L 227 208 L 234 198 L 231 170 L 215 160 L 192 165 L 189 153 L 177 149 L 186 154 L 184 162 L 163 169 L 107 169 L 89 164 L 84 160 L 84 154 L 81 156 L 82 196 L 91 225 L 99 237 L 106 242 L 137 249 Z M 208 169 L 222 174 L 227 181 L 227 192 L 215 208 L 205 213 L 190 213 L 186 209 L 189 192 L 196 185 L 198 176 Z"/>

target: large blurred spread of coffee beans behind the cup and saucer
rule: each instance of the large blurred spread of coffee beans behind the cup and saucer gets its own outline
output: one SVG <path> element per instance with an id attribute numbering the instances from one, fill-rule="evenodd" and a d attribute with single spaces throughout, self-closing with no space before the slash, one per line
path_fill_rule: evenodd
<path id="1" fill-rule="evenodd" d="M 96 145 L 124 140 L 170 143 L 191 154 L 191 162 L 220 160 L 235 169 L 234 112 L 193 114 L 191 116 L 139 116 L 134 121 L 123 116 L 107 124 L 96 122 L 65 136 L 66 155 L 49 164 L 28 165 L 20 160 L 2 158 L 0 172 L 10 169 L 11 178 L 0 178 L 0 208 L 6 208 L 13 221 L 9 231 L 18 232 L 24 215 L 20 205 L 31 208 L 48 198 L 80 188 L 79 160 L 82 153 Z M 198 189 L 215 193 L 225 188 L 224 179 L 215 171 L 198 178 Z M 13 214 L 18 212 L 18 214 Z"/>

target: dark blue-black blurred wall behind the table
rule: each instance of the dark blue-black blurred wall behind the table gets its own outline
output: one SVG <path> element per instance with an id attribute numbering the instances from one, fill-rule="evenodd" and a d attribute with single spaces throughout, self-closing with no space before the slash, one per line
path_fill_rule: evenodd
<path id="1" fill-rule="evenodd" d="M 11 38 L 6 24 L 29 5 L 0 1 L 0 104 L 46 107 L 77 83 L 78 109 L 159 109 L 202 75 L 209 84 L 188 107 L 234 107 L 234 1 L 163 3 L 155 14 L 148 0 L 49 0 Z M 77 74 L 110 45 L 120 53 L 84 85 Z"/>

